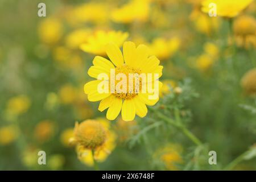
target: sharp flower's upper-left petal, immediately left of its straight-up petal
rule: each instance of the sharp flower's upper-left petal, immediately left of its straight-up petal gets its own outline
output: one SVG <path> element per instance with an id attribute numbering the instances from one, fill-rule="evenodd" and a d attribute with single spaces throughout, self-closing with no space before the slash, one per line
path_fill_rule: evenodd
<path id="1" fill-rule="evenodd" d="M 106 53 L 109 59 L 114 63 L 115 66 L 119 67 L 123 65 L 123 55 L 120 49 L 113 43 L 109 43 L 106 46 Z"/>

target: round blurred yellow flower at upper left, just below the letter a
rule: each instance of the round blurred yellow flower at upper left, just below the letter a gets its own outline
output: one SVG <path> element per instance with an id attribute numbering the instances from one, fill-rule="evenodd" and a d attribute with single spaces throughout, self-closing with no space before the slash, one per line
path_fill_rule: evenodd
<path id="1" fill-rule="evenodd" d="M 47 18 L 40 22 L 38 27 L 39 38 L 43 43 L 55 44 L 62 35 L 62 25 L 58 19 Z"/>

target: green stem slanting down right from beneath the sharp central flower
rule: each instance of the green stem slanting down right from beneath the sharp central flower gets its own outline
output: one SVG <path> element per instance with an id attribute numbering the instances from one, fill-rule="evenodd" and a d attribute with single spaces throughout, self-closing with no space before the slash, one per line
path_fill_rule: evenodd
<path id="1" fill-rule="evenodd" d="M 193 143 L 195 143 L 197 146 L 201 146 L 202 142 L 194 134 L 192 134 L 185 126 L 181 125 L 181 122 L 177 121 L 177 119 L 180 119 L 180 117 L 174 120 L 174 119 L 168 118 L 166 115 L 160 113 L 159 111 L 156 111 L 156 110 L 154 111 L 159 118 L 175 126 L 177 129 L 180 129 L 182 133 L 186 137 L 188 137 Z"/>

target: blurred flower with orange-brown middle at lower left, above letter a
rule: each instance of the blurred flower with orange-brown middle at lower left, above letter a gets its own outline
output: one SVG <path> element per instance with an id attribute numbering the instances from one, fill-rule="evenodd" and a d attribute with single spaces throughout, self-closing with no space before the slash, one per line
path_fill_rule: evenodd
<path id="1" fill-rule="evenodd" d="M 46 142 L 49 140 L 54 134 L 54 123 L 49 120 L 40 121 L 34 130 L 35 138 L 39 142 Z"/>

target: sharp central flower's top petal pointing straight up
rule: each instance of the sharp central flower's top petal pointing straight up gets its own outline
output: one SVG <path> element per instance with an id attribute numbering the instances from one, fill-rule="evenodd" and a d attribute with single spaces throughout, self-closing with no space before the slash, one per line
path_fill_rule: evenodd
<path id="1" fill-rule="evenodd" d="M 133 42 L 123 43 L 123 58 L 125 59 L 125 64 L 131 66 L 134 61 L 136 46 Z"/>

